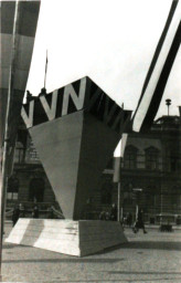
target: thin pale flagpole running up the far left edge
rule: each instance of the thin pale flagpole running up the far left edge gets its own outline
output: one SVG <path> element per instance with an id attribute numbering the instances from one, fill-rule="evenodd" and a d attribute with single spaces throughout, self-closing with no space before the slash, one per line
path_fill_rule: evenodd
<path id="1" fill-rule="evenodd" d="M 6 125 L 4 125 L 4 140 L 3 140 L 3 155 L 2 155 L 2 180 L 1 180 L 1 226 L 0 226 L 0 263 L 2 259 L 2 239 L 4 230 L 4 216 L 6 216 L 6 199 L 7 199 L 7 182 L 8 182 L 8 150 L 10 142 L 10 115 L 11 115 L 11 98 L 13 96 L 13 84 L 14 84 L 14 64 L 15 64 L 15 51 L 17 51 L 17 32 L 19 25 L 19 0 L 15 1 L 14 10 L 14 23 L 12 33 L 12 54 L 11 54 L 11 65 L 9 75 L 9 86 L 8 86 L 8 99 L 7 99 L 7 113 L 6 113 Z M 1 268 L 1 266 L 0 266 Z"/>

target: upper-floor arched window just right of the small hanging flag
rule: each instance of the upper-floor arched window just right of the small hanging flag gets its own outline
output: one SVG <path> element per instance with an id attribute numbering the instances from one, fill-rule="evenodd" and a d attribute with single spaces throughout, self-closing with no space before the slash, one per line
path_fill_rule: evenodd
<path id="1" fill-rule="evenodd" d="M 137 168 L 137 153 L 138 149 L 135 146 L 127 146 L 124 156 L 124 167 L 126 169 Z"/>

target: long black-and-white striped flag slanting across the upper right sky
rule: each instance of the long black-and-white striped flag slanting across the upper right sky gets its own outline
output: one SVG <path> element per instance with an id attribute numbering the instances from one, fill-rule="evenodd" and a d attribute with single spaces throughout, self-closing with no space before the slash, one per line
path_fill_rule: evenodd
<path id="1" fill-rule="evenodd" d="M 181 2 L 173 0 L 132 117 L 132 130 L 148 129 L 158 112 L 181 41 Z"/>

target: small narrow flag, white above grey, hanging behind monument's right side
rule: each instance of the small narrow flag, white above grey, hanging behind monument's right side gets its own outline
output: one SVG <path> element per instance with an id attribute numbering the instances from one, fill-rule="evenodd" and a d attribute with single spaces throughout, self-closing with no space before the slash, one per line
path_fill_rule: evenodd
<path id="1" fill-rule="evenodd" d="M 114 182 L 120 181 L 120 164 L 124 158 L 128 134 L 123 134 L 121 139 L 114 154 Z"/>

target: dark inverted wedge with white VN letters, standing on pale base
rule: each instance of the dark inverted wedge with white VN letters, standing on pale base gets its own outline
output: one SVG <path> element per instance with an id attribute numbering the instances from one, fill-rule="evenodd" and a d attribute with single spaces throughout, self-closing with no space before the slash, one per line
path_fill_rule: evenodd
<path id="1" fill-rule="evenodd" d="M 22 117 L 65 218 L 82 219 L 130 112 L 83 77 L 32 99 Z"/>

